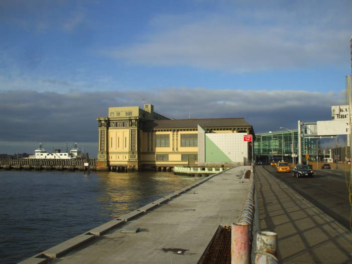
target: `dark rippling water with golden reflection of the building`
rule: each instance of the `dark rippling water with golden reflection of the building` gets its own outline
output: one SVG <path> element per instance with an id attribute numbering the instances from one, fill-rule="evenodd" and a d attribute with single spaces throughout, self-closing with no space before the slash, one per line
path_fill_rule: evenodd
<path id="1" fill-rule="evenodd" d="M 0 171 L 0 262 L 16 263 L 197 181 L 171 172 Z"/>

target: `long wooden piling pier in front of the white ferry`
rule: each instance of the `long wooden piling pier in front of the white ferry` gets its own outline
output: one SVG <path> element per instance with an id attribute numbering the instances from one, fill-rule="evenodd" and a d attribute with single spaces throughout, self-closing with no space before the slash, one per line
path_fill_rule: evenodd
<path id="1" fill-rule="evenodd" d="M 88 163 L 88 164 L 85 164 Z M 36 159 L 36 158 L 4 158 L 0 159 L 0 169 L 23 170 L 90 170 L 97 169 L 96 158 L 72 159 Z"/>

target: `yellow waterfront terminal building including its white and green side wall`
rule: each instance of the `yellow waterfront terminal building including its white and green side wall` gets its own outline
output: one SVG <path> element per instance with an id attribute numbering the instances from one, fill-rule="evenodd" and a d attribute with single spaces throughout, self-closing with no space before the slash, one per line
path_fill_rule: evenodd
<path id="1" fill-rule="evenodd" d="M 254 131 L 244 118 L 169 119 L 149 104 L 109 107 L 108 117 L 97 121 L 97 169 L 242 165 L 251 158 L 243 135 Z"/>

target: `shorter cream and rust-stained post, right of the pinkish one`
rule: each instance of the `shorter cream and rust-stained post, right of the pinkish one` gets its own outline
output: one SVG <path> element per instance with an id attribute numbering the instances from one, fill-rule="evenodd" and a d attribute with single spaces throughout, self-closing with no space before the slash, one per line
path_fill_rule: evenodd
<path id="1" fill-rule="evenodd" d="M 256 235 L 255 264 L 278 264 L 277 233 L 261 231 Z"/>

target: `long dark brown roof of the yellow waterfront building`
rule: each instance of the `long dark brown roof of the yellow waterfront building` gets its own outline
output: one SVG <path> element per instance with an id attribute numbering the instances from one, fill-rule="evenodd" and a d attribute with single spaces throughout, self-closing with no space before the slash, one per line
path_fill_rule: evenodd
<path id="1" fill-rule="evenodd" d="M 148 120 L 142 127 L 145 129 L 197 128 L 198 125 L 204 128 L 251 127 L 244 118 Z"/>

